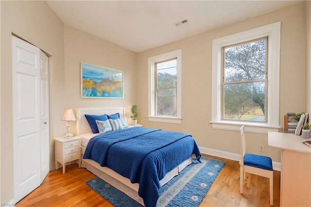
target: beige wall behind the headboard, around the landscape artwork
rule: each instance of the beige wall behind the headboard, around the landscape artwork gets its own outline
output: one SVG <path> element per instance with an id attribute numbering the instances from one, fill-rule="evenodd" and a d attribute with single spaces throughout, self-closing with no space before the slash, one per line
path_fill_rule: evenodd
<path id="1" fill-rule="evenodd" d="M 65 78 L 66 107 L 110 107 L 125 106 L 127 121 L 130 108 L 135 104 L 137 94 L 136 62 L 137 54 L 104 39 L 82 32 L 65 25 Z M 124 73 L 124 99 L 81 98 L 81 62 L 110 69 L 122 70 Z M 61 114 L 59 114 L 61 117 Z M 65 131 L 65 123 L 62 133 Z M 76 127 L 72 124 L 72 132 Z"/>

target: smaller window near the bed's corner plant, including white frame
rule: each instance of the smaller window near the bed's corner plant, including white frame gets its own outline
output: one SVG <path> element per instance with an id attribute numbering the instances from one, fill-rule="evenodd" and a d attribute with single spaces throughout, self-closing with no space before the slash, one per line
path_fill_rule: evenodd
<path id="1" fill-rule="evenodd" d="M 181 123 L 181 50 L 148 58 L 148 121 Z"/>

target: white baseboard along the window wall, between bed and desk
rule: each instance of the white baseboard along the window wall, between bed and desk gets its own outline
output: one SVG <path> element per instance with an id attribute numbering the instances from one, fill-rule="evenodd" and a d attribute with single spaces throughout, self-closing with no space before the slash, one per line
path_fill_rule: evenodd
<path id="1" fill-rule="evenodd" d="M 207 147 L 200 147 L 200 146 L 199 146 L 199 149 L 200 149 L 201 153 L 206 154 L 206 155 L 218 156 L 218 157 L 222 157 L 222 158 L 226 158 L 226 159 L 240 161 L 240 154 L 230 153 L 230 152 L 226 152 L 226 151 L 222 151 L 222 150 L 215 150 L 215 149 L 211 149 L 211 148 L 207 148 Z M 274 170 L 281 171 L 281 163 L 280 162 L 272 161 L 272 166 L 273 166 Z"/>

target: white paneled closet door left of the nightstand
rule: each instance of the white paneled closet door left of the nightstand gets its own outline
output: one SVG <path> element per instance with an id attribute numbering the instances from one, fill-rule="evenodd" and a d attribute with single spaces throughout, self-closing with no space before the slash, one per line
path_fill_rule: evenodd
<path id="1" fill-rule="evenodd" d="M 14 201 L 49 172 L 48 57 L 12 36 Z"/>

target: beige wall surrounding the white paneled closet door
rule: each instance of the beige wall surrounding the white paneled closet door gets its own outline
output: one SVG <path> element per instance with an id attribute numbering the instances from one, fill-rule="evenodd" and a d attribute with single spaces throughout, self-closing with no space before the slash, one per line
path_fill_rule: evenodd
<path id="1" fill-rule="evenodd" d="M 64 93 L 64 25 L 45 1 L 1 3 L 1 202 L 13 199 L 12 43 L 15 33 L 51 55 L 50 134 L 56 134 Z M 3 98 L 5 97 L 5 98 Z M 57 99 L 55 98 L 57 97 Z M 5 120 L 5 121 L 3 121 Z M 56 121 L 57 120 L 57 121 Z M 60 124 L 59 124 L 60 125 Z M 55 126 L 57 126 L 55 128 Z M 63 125 L 62 125 L 63 126 Z M 54 145 L 51 139 L 51 153 Z M 54 156 L 51 156 L 54 160 Z M 50 162 L 51 162 L 50 160 Z M 52 161 L 53 164 L 53 161 Z"/>

